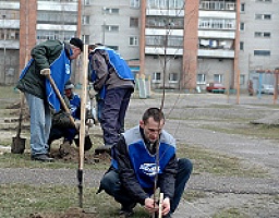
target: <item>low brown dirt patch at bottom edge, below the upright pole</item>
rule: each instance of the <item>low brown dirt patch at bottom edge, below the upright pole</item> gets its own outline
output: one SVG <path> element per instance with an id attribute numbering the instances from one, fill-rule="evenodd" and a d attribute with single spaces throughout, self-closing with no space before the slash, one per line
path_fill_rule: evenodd
<path id="1" fill-rule="evenodd" d="M 69 208 L 65 213 L 31 214 L 29 218 L 98 218 L 96 213 L 86 213 L 82 208 Z"/>

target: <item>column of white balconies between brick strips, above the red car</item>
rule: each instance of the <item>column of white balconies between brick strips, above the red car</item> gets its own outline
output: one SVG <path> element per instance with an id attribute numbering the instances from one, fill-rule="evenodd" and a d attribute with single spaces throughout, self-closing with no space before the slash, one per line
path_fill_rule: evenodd
<path id="1" fill-rule="evenodd" d="M 235 0 L 199 1 L 197 85 L 238 83 L 238 12 Z"/>

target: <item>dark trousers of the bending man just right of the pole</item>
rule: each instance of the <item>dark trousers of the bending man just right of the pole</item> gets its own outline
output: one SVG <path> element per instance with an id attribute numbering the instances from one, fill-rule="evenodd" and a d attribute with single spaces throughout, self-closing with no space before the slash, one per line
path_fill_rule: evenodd
<path id="1" fill-rule="evenodd" d="M 124 118 L 132 92 L 131 88 L 112 88 L 106 93 L 100 124 L 107 146 L 117 144 L 119 134 L 124 131 Z"/>

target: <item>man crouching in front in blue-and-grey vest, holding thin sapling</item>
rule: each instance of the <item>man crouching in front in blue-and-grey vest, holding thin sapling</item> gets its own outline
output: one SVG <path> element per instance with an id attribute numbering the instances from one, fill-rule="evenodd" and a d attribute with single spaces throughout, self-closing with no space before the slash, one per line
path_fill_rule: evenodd
<path id="1" fill-rule="evenodd" d="M 163 124 L 162 111 L 149 108 L 140 126 L 123 133 L 112 148 L 112 165 L 100 181 L 99 192 L 105 190 L 113 196 L 122 206 L 120 214 L 126 217 L 137 203 L 149 213 L 158 213 L 157 202 L 150 197 L 156 174 L 157 187 L 163 193 L 162 215 L 171 217 L 190 179 L 192 162 L 177 158 L 175 140 L 162 130 Z"/>

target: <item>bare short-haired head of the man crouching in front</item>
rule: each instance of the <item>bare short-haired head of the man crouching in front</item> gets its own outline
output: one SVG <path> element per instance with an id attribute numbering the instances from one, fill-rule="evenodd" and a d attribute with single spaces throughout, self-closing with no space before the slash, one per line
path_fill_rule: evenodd
<path id="1" fill-rule="evenodd" d="M 140 126 L 144 130 L 144 136 L 150 143 L 155 143 L 159 138 L 163 124 L 165 116 L 159 108 L 147 109 L 140 121 Z"/>

